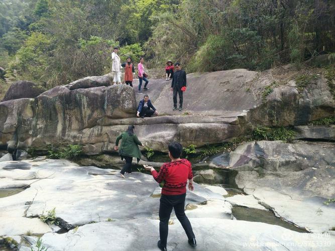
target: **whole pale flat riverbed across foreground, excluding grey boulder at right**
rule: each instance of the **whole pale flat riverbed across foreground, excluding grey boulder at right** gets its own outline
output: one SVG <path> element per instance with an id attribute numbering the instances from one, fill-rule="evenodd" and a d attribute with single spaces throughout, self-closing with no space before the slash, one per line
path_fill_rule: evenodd
<path id="1" fill-rule="evenodd" d="M 2 190 L 25 187 L 0 198 L 3 245 L 37 250 L 40 237 L 48 250 L 157 250 L 160 189 L 150 175 L 134 172 L 122 179 L 116 170 L 37 158 L 1 162 L 0 177 Z M 332 250 L 335 246 L 331 231 L 301 233 L 236 220 L 232 205 L 267 208 L 255 197 L 225 195 L 223 188 L 209 185 L 196 185 L 194 192 L 187 192 L 186 214 L 199 250 Z M 284 205 L 285 199 L 280 200 Z M 302 214 L 307 210 L 300 208 Z M 52 211 L 57 224 L 39 218 Z M 168 249 L 190 250 L 175 216 L 169 227 Z"/>

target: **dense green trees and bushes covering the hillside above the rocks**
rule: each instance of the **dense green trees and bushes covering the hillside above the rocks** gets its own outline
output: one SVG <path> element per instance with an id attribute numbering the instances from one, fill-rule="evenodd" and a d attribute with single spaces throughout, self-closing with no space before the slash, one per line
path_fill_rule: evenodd
<path id="1" fill-rule="evenodd" d="M 334 14 L 326 0 L 2 0 L 0 66 L 53 87 L 107 73 L 120 46 L 162 72 L 262 70 L 335 52 Z"/>

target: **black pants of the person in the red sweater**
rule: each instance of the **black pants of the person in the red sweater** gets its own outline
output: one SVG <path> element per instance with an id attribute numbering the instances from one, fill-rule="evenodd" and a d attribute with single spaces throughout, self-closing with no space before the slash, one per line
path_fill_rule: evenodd
<path id="1" fill-rule="evenodd" d="M 166 247 L 167 235 L 169 232 L 169 219 L 174 208 L 174 212 L 184 228 L 188 239 L 195 238 L 191 223 L 185 214 L 185 198 L 186 193 L 180 195 L 164 195 L 162 194 L 159 204 L 159 236 L 161 245 Z"/>

